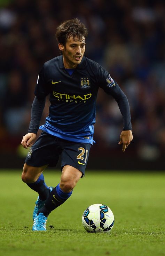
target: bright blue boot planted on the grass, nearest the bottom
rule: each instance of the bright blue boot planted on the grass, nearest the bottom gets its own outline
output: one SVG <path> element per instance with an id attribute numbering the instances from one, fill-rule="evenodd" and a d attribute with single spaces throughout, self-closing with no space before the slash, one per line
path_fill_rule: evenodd
<path id="1" fill-rule="evenodd" d="M 34 218 L 34 223 L 32 230 L 33 231 L 46 231 L 46 222 L 47 218 L 44 216 L 42 212 L 40 212 L 38 215 L 36 214 Z"/>

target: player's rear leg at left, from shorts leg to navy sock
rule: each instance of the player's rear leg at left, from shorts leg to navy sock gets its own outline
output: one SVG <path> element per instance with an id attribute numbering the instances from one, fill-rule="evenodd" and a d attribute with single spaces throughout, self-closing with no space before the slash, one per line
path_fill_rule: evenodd
<path id="1" fill-rule="evenodd" d="M 55 136 L 42 132 L 29 150 L 23 167 L 23 182 L 37 191 L 41 200 L 46 200 L 47 198 L 47 194 L 43 190 L 45 188 L 47 191 L 49 190 L 49 187 L 44 182 L 42 172 L 48 164 L 55 166 L 58 162 L 59 153 L 55 150 L 56 139 Z"/>

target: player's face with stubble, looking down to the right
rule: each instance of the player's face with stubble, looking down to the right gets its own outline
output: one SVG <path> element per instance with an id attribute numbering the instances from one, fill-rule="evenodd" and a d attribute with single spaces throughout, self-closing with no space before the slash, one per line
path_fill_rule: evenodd
<path id="1" fill-rule="evenodd" d="M 77 37 L 74 39 L 69 37 L 66 44 L 58 44 L 59 49 L 63 54 L 65 69 L 74 69 L 80 64 L 85 52 L 85 38 L 79 41 Z"/>

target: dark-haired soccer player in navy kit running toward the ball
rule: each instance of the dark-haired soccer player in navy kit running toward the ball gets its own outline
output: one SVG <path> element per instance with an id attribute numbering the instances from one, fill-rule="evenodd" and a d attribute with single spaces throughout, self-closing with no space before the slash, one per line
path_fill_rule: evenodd
<path id="1" fill-rule="evenodd" d="M 124 127 L 119 144 L 123 152 L 132 141 L 132 126 L 126 95 L 102 66 L 84 56 L 88 31 L 78 19 L 63 22 L 56 30 L 62 55 L 42 67 L 35 88 L 31 122 L 22 139 L 31 147 L 23 167 L 22 180 L 39 196 L 33 212 L 32 230 L 46 230 L 47 217 L 72 194 L 78 180 L 84 177 L 89 150 L 93 144 L 95 105 L 101 87 L 118 103 Z M 39 127 L 45 98 L 50 95 L 49 116 Z M 40 137 L 33 144 L 38 129 Z M 61 180 L 56 187 L 45 184 L 42 172 L 56 166 L 61 155 Z"/>

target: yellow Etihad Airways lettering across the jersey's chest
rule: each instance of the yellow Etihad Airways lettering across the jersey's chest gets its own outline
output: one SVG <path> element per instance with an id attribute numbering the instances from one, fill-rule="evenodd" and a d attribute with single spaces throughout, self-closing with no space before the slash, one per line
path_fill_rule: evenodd
<path id="1" fill-rule="evenodd" d="M 88 93 L 88 94 L 84 94 L 84 95 L 75 95 L 75 94 L 64 94 L 64 93 L 58 93 L 58 92 L 54 92 L 53 91 L 53 95 L 54 97 L 58 98 L 58 100 L 62 100 L 65 102 L 74 102 L 74 103 L 78 103 L 78 102 L 86 102 L 86 100 L 88 100 L 89 98 L 91 98 L 92 93 Z"/>

